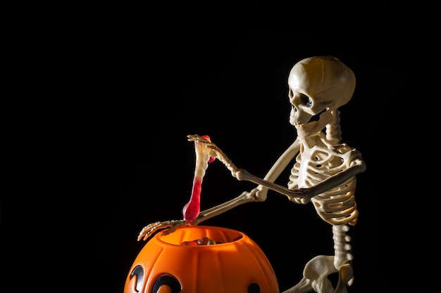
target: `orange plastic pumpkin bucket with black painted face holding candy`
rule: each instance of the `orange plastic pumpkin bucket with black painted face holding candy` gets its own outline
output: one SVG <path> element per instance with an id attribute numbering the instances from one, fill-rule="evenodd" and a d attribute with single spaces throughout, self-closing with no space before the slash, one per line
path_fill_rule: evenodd
<path id="1" fill-rule="evenodd" d="M 184 226 L 156 233 L 139 252 L 124 293 L 139 292 L 279 293 L 279 288 L 266 255 L 244 233 Z"/>

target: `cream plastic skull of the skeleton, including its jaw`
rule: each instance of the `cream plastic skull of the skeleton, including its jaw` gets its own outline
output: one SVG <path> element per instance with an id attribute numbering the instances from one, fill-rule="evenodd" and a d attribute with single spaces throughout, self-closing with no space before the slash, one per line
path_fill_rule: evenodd
<path id="1" fill-rule="evenodd" d="M 346 104 L 355 90 L 355 74 L 333 56 L 300 60 L 288 77 L 290 124 L 309 137 L 332 121 L 331 111 Z M 314 118 L 313 118 L 314 117 Z"/>

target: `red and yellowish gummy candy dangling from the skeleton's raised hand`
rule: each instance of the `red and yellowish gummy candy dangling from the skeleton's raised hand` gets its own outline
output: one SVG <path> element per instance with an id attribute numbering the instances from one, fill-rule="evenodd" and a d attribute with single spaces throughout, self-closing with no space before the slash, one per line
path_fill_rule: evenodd
<path id="1" fill-rule="evenodd" d="M 209 136 L 201 136 L 201 138 L 210 141 Z M 205 170 L 209 166 L 209 163 L 213 162 L 216 157 L 209 155 L 209 149 L 205 148 L 203 143 L 194 141 L 194 150 L 196 152 L 196 167 L 194 168 L 193 188 L 190 201 L 185 204 L 182 209 L 185 221 L 194 221 L 199 216 L 201 211 L 201 189 L 202 179 L 205 175 Z"/>

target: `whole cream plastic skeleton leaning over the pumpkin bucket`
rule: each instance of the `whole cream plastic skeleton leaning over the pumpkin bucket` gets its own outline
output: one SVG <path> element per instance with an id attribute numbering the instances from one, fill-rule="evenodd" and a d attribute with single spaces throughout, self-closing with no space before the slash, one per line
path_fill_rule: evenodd
<path id="1" fill-rule="evenodd" d="M 297 129 L 297 138 L 279 157 L 266 176 L 258 178 L 239 169 L 214 143 L 201 136 L 188 136 L 189 141 L 206 145 L 209 154 L 218 158 L 240 181 L 251 181 L 258 186 L 238 197 L 211 209 L 201 211 L 194 221 L 174 220 L 151 223 L 139 233 L 138 240 L 147 238 L 156 230 L 173 233 L 180 226 L 196 226 L 202 221 L 222 214 L 246 202 L 264 202 L 268 189 L 285 195 L 297 204 L 313 203 L 318 216 L 333 229 L 333 256 L 316 256 L 304 267 L 303 278 L 284 293 L 345 293 L 354 282 L 351 238 L 346 234 L 358 218 L 354 191 L 356 174 L 366 169 L 361 153 L 342 143 L 340 110 L 355 89 L 355 75 L 340 60 L 332 56 L 316 56 L 299 61 L 288 77 L 289 99 L 292 105 L 290 124 Z M 315 119 L 316 117 L 318 119 Z M 275 180 L 294 162 L 287 188 Z M 328 275 L 338 273 L 333 284 Z"/>

